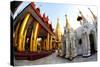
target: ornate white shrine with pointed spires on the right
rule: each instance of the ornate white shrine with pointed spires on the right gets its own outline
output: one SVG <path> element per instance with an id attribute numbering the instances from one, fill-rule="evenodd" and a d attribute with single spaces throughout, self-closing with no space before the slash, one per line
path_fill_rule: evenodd
<path id="1" fill-rule="evenodd" d="M 89 9 L 90 10 L 90 9 Z M 72 60 L 74 57 L 81 55 L 88 57 L 97 51 L 97 17 L 93 14 L 93 23 L 91 24 L 79 11 L 81 27 L 73 30 L 66 17 L 66 26 L 64 27 L 64 34 L 62 36 L 62 45 L 60 56 Z"/>

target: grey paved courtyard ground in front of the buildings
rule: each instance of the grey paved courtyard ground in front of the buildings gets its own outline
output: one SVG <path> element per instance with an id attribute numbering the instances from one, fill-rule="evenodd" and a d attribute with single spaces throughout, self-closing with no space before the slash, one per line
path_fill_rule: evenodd
<path id="1" fill-rule="evenodd" d="M 28 61 L 28 60 L 15 60 L 15 66 L 24 66 L 24 65 L 42 65 L 42 64 L 59 64 L 59 63 L 73 63 L 73 62 L 87 62 L 87 61 L 96 61 L 97 60 L 97 54 L 94 54 L 88 58 L 83 58 L 81 56 L 77 56 L 72 61 L 69 61 L 68 59 L 61 58 L 56 56 L 56 53 L 53 53 L 52 55 L 49 55 L 47 57 L 34 60 L 34 61 Z"/>

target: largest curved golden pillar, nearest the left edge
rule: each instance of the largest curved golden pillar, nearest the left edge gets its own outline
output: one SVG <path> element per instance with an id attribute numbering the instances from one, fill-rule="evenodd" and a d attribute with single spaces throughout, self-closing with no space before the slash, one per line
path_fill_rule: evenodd
<path id="1" fill-rule="evenodd" d="M 19 31 L 19 39 L 18 39 L 18 51 L 24 51 L 24 40 L 25 40 L 25 27 L 26 27 L 26 24 L 27 24 L 27 21 L 30 17 L 30 14 L 27 14 L 22 22 L 22 25 L 20 27 L 20 31 Z"/>

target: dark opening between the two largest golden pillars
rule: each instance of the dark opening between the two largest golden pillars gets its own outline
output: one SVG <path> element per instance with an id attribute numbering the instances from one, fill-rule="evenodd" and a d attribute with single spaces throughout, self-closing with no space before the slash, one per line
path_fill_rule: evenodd
<path id="1" fill-rule="evenodd" d="M 33 22 L 31 22 L 28 26 L 27 33 L 26 33 L 26 40 L 25 40 L 25 51 L 30 51 L 30 39 L 33 29 Z"/>

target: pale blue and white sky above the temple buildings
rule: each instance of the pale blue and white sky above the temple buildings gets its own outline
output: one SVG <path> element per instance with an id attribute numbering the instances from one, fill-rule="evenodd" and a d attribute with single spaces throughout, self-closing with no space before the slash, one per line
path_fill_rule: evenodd
<path id="1" fill-rule="evenodd" d="M 14 17 L 23 10 L 30 2 L 23 2 L 18 10 L 16 11 Z M 52 22 L 52 27 L 55 29 L 57 25 L 57 18 L 59 18 L 59 24 L 62 33 L 64 32 L 64 27 L 66 25 L 65 14 L 68 16 L 68 21 L 70 26 L 73 29 L 77 29 L 80 27 L 80 22 L 77 21 L 77 16 L 79 14 L 79 10 L 82 11 L 83 15 L 89 22 L 92 22 L 92 14 L 88 10 L 90 8 L 93 13 L 97 16 L 97 8 L 96 6 L 89 5 L 73 5 L 73 4 L 60 4 L 60 3 L 41 3 L 35 2 L 36 7 L 40 8 L 40 13 L 46 14 L 49 17 L 49 21 Z"/>

